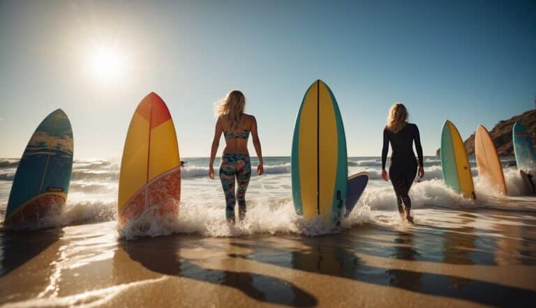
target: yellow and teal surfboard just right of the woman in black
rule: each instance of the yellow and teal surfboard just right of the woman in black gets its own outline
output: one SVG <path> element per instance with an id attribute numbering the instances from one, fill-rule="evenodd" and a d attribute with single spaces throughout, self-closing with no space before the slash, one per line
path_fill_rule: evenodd
<path id="1" fill-rule="evenodd" d="M 441 169 L 445 184 L 466 198 L 476 198 L 471 167 L 460 133 L 451 121 L 445 121 L 441 132 Z"/>

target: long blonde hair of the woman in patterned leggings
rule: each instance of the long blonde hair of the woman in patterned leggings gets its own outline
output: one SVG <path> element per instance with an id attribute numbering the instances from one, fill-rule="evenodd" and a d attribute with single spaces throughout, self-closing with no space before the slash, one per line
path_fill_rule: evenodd
<path id="1" fill-rule="evenodd" d="M 238 90 L 230 91 L 216 104 L 214 113 L 217 118 L 221 118 L 225 132 L 236 134 L 244 128 L 242 117 L 244 107 L 246 107 L 246 97 Z"/>

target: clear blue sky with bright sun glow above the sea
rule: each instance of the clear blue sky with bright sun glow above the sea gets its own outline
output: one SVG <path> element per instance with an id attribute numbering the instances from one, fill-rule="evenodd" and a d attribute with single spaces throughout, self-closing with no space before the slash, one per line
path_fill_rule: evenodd
<path id="1" fill-rule="evenodd" d="M 120 158 L 151 91 L 181 157 L 209 156 L 214 103 L 232 89 L 265 156 L 290 155 L 316 79 L 336 97 L 349 156 L 380 155 L 394 102 L 425 155 L 447 118 L 466 139 L 535 108 L 535 1 L 0 1 L 0 42 L 0 157 L 20 157 L 61 108 L 75 159 Z"/>

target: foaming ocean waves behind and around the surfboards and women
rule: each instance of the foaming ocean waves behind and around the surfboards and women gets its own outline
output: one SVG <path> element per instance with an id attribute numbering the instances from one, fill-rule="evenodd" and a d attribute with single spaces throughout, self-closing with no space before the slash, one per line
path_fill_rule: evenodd
<path id="1" fill-rule="evenodd" d="M 120 237 L 161 236 L 170 233 L 199 233 L 202 236 L 240 236 L 257 233 L 297 233 L 316 236 L 336 231 L 320 221 L 307 222 L 295 214 L 292 205 L 290 157 L 265 157 L 265 174 L 257 176 L 258 160 L 252 158 L 253 176 L 246 193 L 248 214 L 246 220 L 230 228 L 225 222 L 225 200 L 218 180 L 208 178 L 207 157 L 186 157 L 182 168 L 181 203 L 179 217 L 173 221 L 148 220 L 151 228 L 140 233 L 135 228 L 118 230 Z M 509 197 L 522 196 L 523 183 L 514 166 L 514 157 L 502 157 Z M 388 163 L 388 162 L 387 162 Z M 410 197 L 416 222 L 435 217 L 434 210 L 449 208 L 502 208 L 505 197 L 490 193 L 492 190 L 480 183 L 474 157 L 470 158 L 477 200 L 463 199 L 442 182 L 441 163 L 437 157 L 425 157 L 422 179 L 416 179 Z M 6 210 L 17 167 L 17 160 L 0 159 L 0 216 Z M 43 226 L 68 226 L 93 224 L 117 220 L 117 186 L 120 162 L 118 160 L 75 160 L 70 182 L 68 201 L 64 213 L 47 217 Z M 398 225 L 396 200 L 390 183 L 381 178 L 380 157 L 350 157 L 348 174 L 368 172 L 370 181 L 355 210 L 341 223 L 342 228 L 356 224 Z M 146 223 L 147 223 L 146 222 Z"/>

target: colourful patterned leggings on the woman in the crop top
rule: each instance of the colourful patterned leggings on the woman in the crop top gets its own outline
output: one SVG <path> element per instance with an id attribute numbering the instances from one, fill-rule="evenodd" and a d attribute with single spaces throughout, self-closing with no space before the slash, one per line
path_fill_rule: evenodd
<path id="1" fill-rule="evenodd" d="M 225 217 L 234 223 L 234 179 L 238 183 L 238 213 L 240 221 L 246 216 L 246 190 L 251 177 L 251 162 L 248 154 L 224 154 L 221 157 L 220 180 L 225 193 Z"/>

